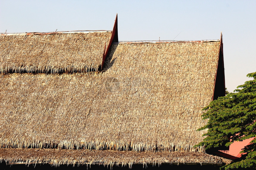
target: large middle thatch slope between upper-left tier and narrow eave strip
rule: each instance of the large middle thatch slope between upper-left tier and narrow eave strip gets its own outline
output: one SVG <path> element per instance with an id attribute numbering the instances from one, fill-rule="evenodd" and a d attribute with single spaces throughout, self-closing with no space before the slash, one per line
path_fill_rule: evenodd
<path id="1" fill-rule="evenodd" d="M 103 72 L 2 74 L 0 145 L 203 151 L 219 46 L 113 44 Z"/>

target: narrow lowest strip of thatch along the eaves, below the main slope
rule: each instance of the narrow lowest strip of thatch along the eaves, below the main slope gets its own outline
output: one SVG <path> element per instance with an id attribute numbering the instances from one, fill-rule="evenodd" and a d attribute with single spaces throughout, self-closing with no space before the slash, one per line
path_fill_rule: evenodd
<path id="1" fill-rule="evenodd" d="M 0 149 L 8 163 L 103 164 L 129 166 L 140 163 L 221 163 L 220 157 L 197 152 L 133 152 L 117 150 Z M 226 161 L 226 160 L 225 160 Z"/>

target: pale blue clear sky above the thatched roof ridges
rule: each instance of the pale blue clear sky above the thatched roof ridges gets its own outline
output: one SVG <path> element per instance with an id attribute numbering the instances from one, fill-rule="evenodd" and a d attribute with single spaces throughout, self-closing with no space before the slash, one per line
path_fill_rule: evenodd
<path id="1" fill-rule="evenodd" d="M 112 30 L 116 13 L 119 41 L 219 39 L 222 31 L 230 92 L 256 71 L 255 0 L 0 0 L 0 32 Z"/>

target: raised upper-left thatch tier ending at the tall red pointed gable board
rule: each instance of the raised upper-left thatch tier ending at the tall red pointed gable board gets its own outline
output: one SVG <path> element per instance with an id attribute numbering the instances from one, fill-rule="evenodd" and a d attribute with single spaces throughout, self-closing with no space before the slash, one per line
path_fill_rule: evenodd
<path id="1" fill-rule="evenodd" d="M 0 35 L 1 73 L 62 73 L 97 70 L 112 31 L 49 35 Z"/>

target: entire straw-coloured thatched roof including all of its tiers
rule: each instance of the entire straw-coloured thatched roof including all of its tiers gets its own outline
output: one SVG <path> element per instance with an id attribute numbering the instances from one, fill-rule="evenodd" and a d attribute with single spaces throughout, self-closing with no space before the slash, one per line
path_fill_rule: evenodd
<path id="1" fill-rule="evenodd" d="M 220 161 L 193 146 L 218 91 L 221 41 L 115 41 L 117 22 L 113 32 L 0 35 L 0 160 Z"/>

